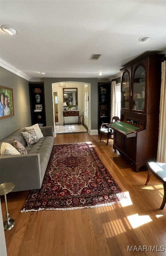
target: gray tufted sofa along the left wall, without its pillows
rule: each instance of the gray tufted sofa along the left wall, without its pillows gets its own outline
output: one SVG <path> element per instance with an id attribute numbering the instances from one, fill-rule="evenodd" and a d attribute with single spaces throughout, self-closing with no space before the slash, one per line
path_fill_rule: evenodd
<path id="1" fill-rule="evenodd" d="M 12 144 L 12 138 L 18 140 L 26 148 L 26 155 L 0 156 L 0 184 L 14 182 L 14 191 L 40 189 L 48 160 L 54 144 L 53 127 L 40 127 L 43 138 L 33 145 L 26 146 L 22 136 L 24 128 L 13 133 L 0 142 Z"/>

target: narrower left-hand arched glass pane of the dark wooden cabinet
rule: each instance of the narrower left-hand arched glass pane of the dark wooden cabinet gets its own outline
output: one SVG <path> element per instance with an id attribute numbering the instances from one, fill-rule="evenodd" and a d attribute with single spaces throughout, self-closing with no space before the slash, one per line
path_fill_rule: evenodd
<path id="1" fill-rule="evenodd" d="M 122 77 L 121 90 L 121 108 L 129 109 L 130 105 L 130 77 L 129 73 L 125 72 Z"/>

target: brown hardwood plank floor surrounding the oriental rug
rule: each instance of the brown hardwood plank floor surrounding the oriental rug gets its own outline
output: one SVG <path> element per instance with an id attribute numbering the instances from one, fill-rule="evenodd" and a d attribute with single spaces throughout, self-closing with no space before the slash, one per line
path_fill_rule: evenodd
<path id="1" fill-rule="evenodd" d="M 133 172 L 130 164 L 114 152 L 113 140 L 106 146 L 106 137 L 102 139 L 105 141 L 88 133 L 63 134 L 56 136 L 55 144 L 91 141 L 128 200 L 92 209 L 21 213 L 29 191 L 10 193 L 8 211 L 16 224 L 5 232 L 8 256 L 166 255 L 166 206 L 159 209 L 162 184 L 151 175 L 145 186 L 146 168 Z M 4 219 L 3 197 L 1 203 Z M 133 246 L 134 251 L 129 251 L 128 246 L 130 250 Z M 146 246 L 151 246 L 148 252 Z"/>

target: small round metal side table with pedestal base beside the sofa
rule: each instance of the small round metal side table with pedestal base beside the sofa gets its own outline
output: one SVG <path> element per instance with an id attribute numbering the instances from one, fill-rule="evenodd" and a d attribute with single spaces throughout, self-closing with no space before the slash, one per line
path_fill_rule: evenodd
<path id="1" fill-rule="evenodd" d="M 8 209 L 7 209 L 7 201 L 6 201 L 6 194 L 11 192 L 14 187 L 15 187 L 15 184 L 13 182 L 5 182 L 0 184 L 0 196 L 4 195 L 5 206 L 6 206 L 6 218 L 3 223 L 3 227 L 5 231 L 10 230 L 15 224 L 15 220 L 11 219 L 9 216 Z"/>

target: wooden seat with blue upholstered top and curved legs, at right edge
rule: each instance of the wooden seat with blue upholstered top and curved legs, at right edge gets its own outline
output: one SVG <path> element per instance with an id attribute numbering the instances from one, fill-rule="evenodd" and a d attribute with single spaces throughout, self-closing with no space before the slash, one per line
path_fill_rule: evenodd
<path id="1" fill-rule="evenodd" d="M 145 183 L 145 185 L 148 185 L 148 182 L 150 180 L 151 173 L 160 181 L 163 183 L 164 187 L 164 196 L 163 196 L 163 201 L 160 206 L 160 209 L 162 210 L 165 206 L 166 203 L 166 163 L 154 163 L 154 162 L 148 162 L 147 163 L 148 167 L 148 178 Z"/>

